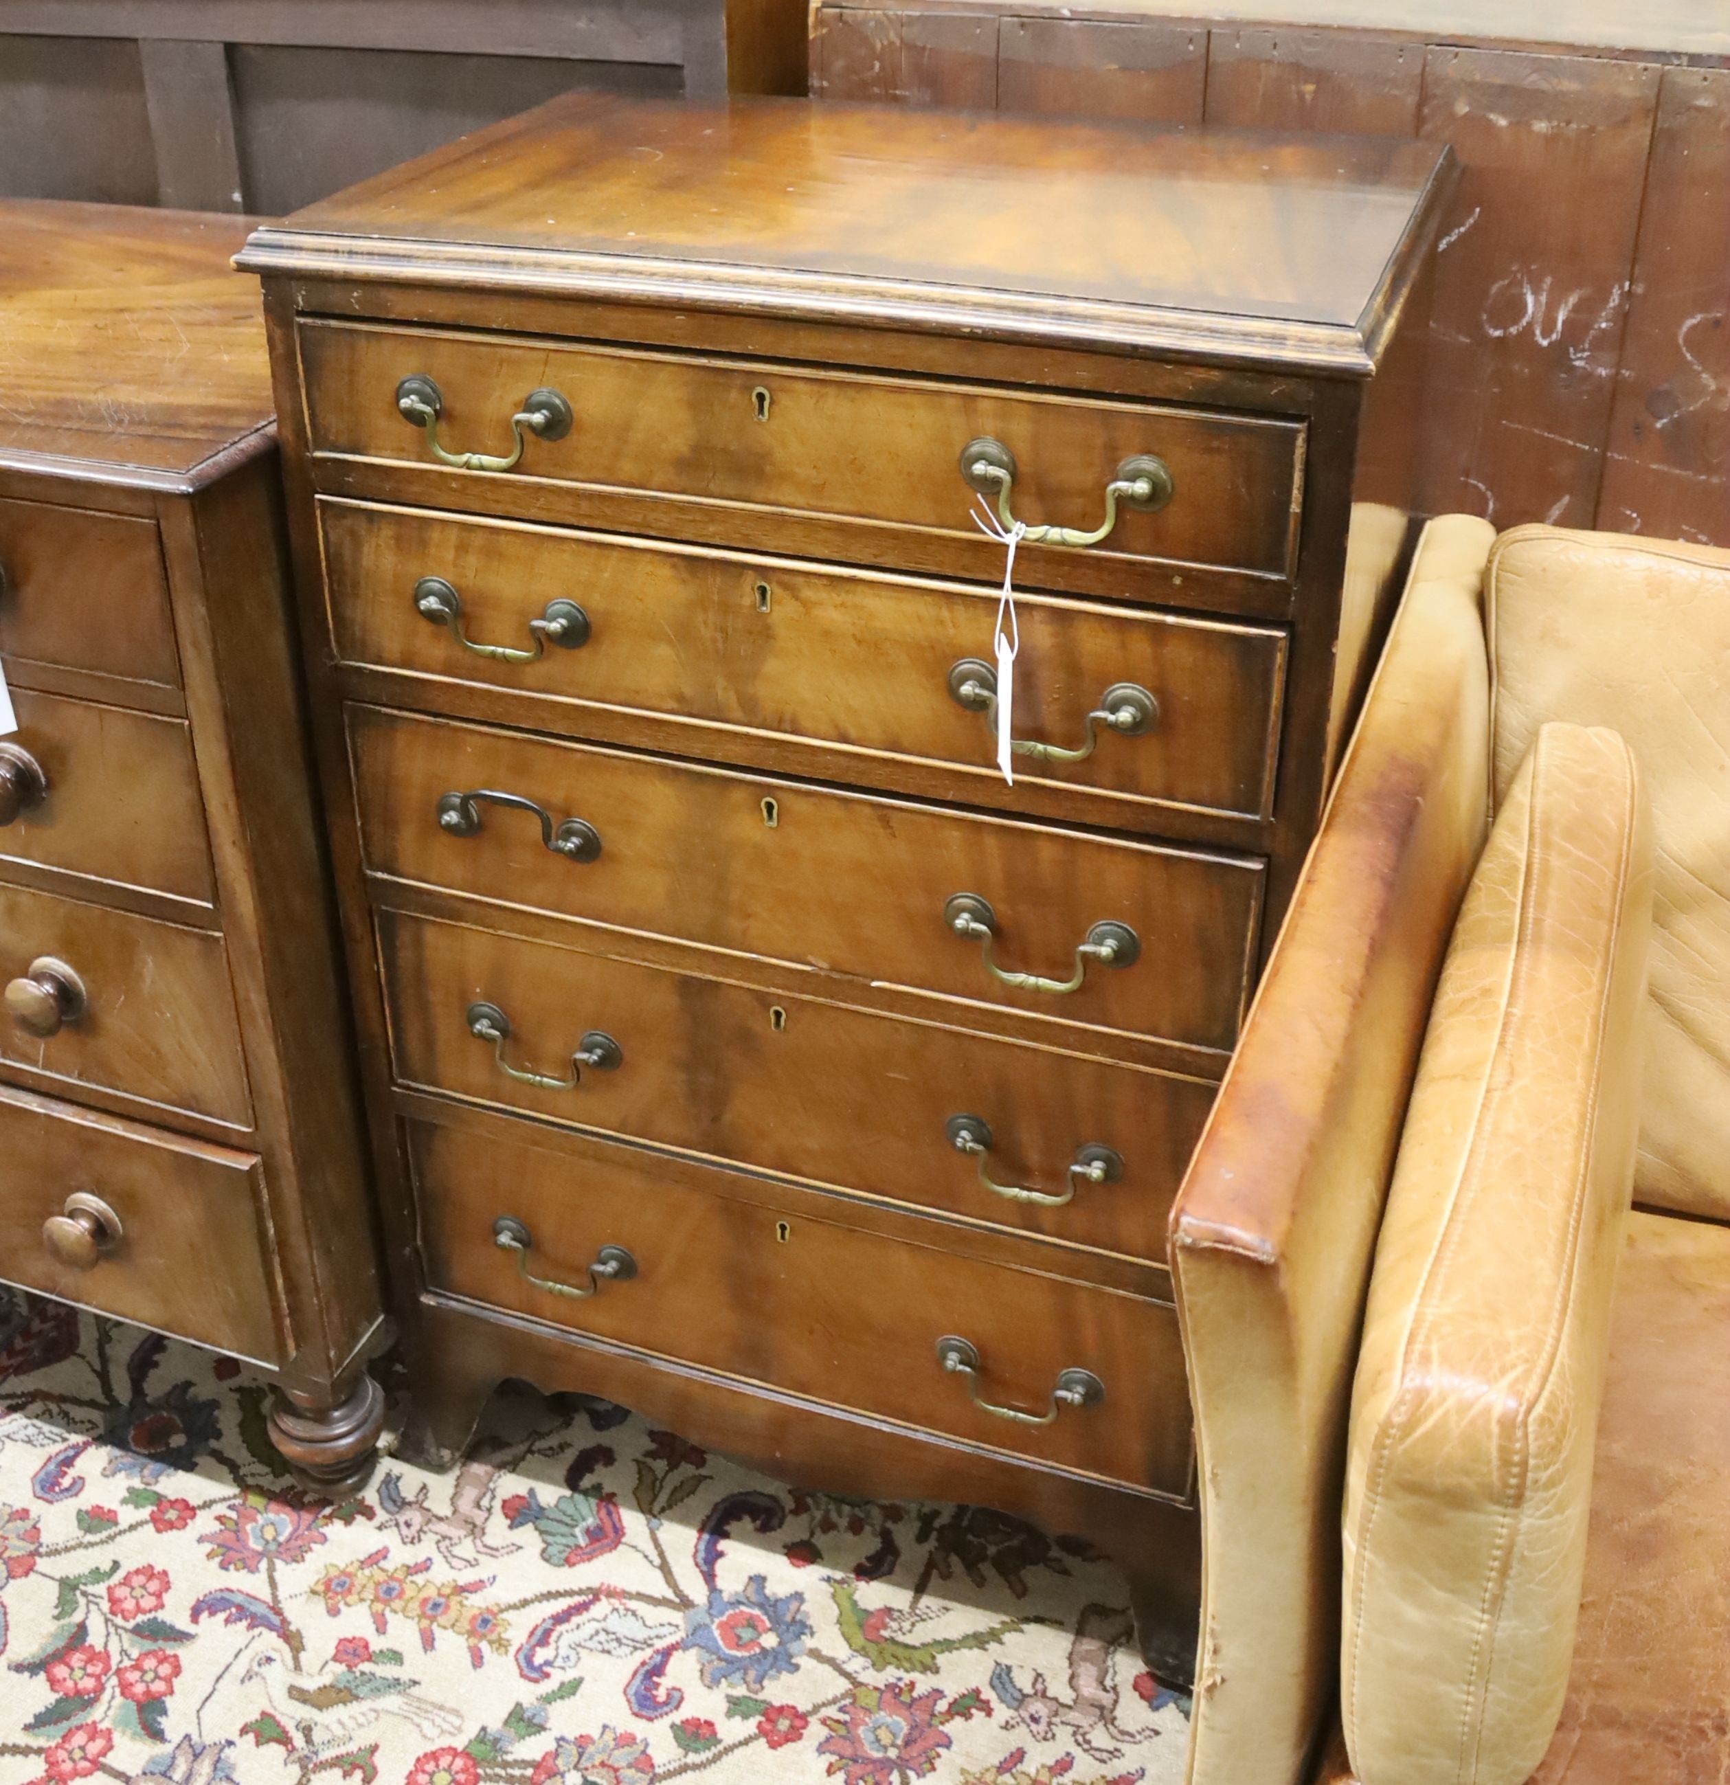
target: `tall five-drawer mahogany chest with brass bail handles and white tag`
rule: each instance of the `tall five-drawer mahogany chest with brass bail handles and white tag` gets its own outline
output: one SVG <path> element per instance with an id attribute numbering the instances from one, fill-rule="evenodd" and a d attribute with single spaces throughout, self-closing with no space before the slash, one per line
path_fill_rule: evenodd
<path id="1" fill-rule="evenodd" d="M 1385 618 L 1450 175 L 571 96 L 252 237 L 425 1451 L 514 1374 L 998 1507 L 1182 1671 L 1166 1216 Z"/>

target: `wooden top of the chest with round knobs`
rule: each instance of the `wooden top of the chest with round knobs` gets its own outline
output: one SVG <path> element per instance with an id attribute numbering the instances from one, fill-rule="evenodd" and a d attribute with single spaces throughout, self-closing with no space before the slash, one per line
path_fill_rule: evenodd
<path id="1" fill-rule="evenodd" d="M 245 218 L 0 200 L 0 466 L 198 482 L 271 425 Z"/>

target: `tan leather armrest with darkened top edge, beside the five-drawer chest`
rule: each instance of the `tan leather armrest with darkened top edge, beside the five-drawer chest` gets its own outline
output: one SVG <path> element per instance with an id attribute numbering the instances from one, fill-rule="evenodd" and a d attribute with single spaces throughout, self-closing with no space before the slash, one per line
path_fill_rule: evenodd
<path id="1" fill-rule="evenodd" d="M 1289 1785 L 1339 1651 L 1346 1398 L 1443 951 L 1487 825 L 1478 580 L 1493 528 L 1419 541 L 1207 1132 L 1171 1264 L 1203 1532 L 1194 1785 Z"/>

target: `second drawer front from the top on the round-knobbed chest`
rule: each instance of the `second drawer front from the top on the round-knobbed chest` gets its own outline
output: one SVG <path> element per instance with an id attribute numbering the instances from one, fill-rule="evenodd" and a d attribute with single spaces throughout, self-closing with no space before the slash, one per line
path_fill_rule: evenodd
<path id="1" fill-rule="evenodd" d="M 211 907 L 211 846 L 186 721 L 25 689 L 14 705 L 18 734 L 0 739 L 9 759 L 0 766 L 21 793 L 0 787 L 0 860 Z"/>

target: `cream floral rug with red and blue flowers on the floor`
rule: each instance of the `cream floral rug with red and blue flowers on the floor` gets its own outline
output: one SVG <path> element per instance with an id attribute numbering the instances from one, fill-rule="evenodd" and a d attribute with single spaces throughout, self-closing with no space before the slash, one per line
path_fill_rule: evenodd
<path id="1" fill-rule="evenodd" d="M 266 1387 L 0 1289 L 0 1781 L 1168 1785 L 1085 1548 L 800 1494 L 602 1401 L 302 1501 Z"/>

